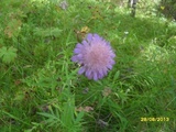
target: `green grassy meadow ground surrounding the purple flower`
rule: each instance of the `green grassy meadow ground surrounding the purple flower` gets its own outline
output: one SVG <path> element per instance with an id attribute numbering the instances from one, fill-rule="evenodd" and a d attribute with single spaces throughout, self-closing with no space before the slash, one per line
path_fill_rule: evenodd
<path id="1" fill-rule="evenodd" d="M 0 16 L 1 132 L 176 131 L 175 22 L 94 0 L 6 0 Z M 70 61 L 85 32 L 117 54 L 98 81 Z"/>

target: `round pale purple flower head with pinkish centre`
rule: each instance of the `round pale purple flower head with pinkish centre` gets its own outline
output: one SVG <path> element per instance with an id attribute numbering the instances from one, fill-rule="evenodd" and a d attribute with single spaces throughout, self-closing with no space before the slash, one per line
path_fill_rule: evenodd
<path id="1" fill-rule="evenodd" d="M 85 73 L 89 79 L 101 79 L 114 64 L 116 54 L 110 43 L 98 34 L 88 34 L 81 43 L 76 45 L 72 61 L 81 65 L 78 74 Z"/>

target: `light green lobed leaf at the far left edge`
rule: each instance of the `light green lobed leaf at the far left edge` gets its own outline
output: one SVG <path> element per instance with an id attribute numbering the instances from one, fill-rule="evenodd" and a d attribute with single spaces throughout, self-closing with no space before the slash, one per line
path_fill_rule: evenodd
<path id="1" fill-rule="evenodd" d="M 2 58 L 3 63 L 11 63 L 14 61 L 14 58 L 16 57 L 16 48 L 14 47 L 9 47 L 7 48 L 6 46 L 0 48 L 0 57 Z"/>

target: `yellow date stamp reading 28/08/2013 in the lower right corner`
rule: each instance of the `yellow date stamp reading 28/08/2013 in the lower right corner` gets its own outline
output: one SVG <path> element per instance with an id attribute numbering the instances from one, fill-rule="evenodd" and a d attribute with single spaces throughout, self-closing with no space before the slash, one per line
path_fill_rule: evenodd
<path id="1" fill-rule="evenodd" d="M 160 117 L 160 118 L 146 118 L 146 117 L 143 117 L 143 118 L 141 118 L 141 122 L 147 122 L 147 121 L 156 121 L 156 122 L 164 122 L 164 121 L 169 121 L 169 118 L 167 118 L 167 117 Z"/>

